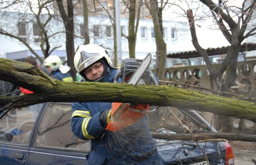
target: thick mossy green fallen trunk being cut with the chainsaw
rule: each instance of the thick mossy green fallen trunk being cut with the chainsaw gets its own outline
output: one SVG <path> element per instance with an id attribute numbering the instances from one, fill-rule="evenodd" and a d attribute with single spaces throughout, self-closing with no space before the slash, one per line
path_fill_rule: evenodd
<path id="1" fill-rule="evenodd" d="M 0 105 L 5 108 L 42 102 L 128 102 L 206 111 L 256 122 L 254 102 L 170 86 L 66 83 L 48 77 L 34 66 L 5 58 L 0 58 L 0 79 L 35 92 L 17 97 L 0 96 Z"/>

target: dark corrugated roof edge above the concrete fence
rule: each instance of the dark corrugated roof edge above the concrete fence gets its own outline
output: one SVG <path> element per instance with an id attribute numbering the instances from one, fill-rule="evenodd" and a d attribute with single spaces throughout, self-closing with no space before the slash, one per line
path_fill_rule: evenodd
<path id="1" fill-rule="evenodd" d="M 208 49 L 206 49 L 206 52 L 208 53 L 208 56 L 227 54 L 229 47 L 230 46 L 222 46 L 219 48 L 208 48 Z M 239 52 L 252 51 L 252 50 L 256 50 L 256 43 L 243 43 L 241 45 Z M 181 58 L 182 59 L 182 58 L 195 58 L 195 57 L 201 57 L 201 55 L 195 50 L 167 54 L 167 58 Z"/>

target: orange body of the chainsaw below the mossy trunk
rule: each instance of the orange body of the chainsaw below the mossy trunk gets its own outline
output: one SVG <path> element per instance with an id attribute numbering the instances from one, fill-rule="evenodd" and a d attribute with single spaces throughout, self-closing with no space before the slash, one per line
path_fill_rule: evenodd
<path id="1" fill-rule="evenodd" d="M 130 108 L 149 111 L 149 105 L 147 104 L 130 105 L 128 103 L 114 102 L 112 103 L 111 120 L 108 123 L 107 130 L 116 132 L 130 124 L 136 123 L 146 115 L 146 113 L 131 111 Z"/>

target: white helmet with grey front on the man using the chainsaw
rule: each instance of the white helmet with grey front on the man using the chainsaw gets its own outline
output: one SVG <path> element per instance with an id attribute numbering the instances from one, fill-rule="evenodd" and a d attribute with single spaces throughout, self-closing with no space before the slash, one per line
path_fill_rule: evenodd
<path id="1" fill-rule="evenodd" d="M 101 46 L 95 44 L 80 45 L 77 52 L 75 52 L 75 70 L 86 79 L 86 75 L 82 71 L 102 58 L 105 59 L 109 66 L 111 65 L 112 62 L 108 57 L 107 50 Z"/>

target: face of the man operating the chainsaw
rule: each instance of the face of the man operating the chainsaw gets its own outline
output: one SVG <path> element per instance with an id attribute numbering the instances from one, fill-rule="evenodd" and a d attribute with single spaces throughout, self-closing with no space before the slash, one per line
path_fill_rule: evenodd
<path id="1" fill-rule="evenodd" d="M 87 68 L 84 72 L 86 78 L 89 80 L 96 80 L 97 78 L 101 77 L 104 71 L 104 67 L 102 63 L 95 63 L 90 68 Z"/>

